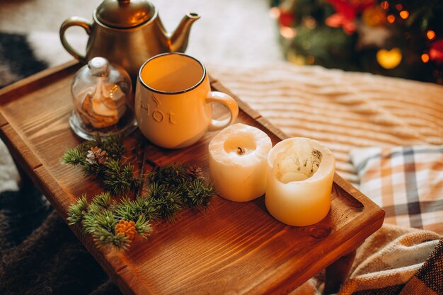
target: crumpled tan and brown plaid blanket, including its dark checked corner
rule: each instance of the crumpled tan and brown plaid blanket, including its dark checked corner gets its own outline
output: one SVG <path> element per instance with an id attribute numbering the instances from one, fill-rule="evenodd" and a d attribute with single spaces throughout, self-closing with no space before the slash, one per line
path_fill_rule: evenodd
<path id="1" fill-rule="evenodd" d="M 443 294 L 443 239 L 386 224 L 357 250 L 338 295 Z"/>

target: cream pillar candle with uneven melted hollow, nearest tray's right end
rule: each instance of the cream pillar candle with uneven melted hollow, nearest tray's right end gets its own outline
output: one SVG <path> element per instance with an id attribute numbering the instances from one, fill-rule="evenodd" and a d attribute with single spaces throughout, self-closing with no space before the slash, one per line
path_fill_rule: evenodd
<path id="1" fill-rule="evenodd" d="M 280 141 L 267 156 L 267 210 L 284 224 L 316 224 L 329 212 L 334 170 L 333 154 L 318 141 Z"/>

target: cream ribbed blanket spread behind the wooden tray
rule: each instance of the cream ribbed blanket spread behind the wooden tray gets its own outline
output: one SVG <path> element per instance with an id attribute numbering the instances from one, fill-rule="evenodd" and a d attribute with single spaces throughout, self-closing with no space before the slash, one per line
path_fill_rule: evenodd
<path id="1" fill-rule="evenodd" d="M 326 144 L 354 184 L 354 147 L 443 144 L 443 86 L 287 63 L 207 67 L 289 136 Z"/>

